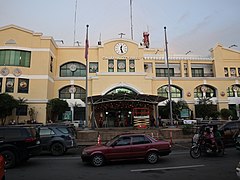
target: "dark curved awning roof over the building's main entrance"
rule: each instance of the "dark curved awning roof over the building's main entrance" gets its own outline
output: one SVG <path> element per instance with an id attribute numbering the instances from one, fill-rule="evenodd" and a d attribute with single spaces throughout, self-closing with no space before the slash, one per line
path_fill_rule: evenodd
<path id="1" fill-rule="evenodd" d="M 148 94 L 108 94 L 88 97 L 88 102 L 95 104 L 116 102 L 116 101 L 138 101 L 151 104 L 158 104 L 167 98 Z"/>

